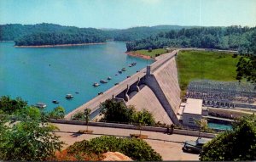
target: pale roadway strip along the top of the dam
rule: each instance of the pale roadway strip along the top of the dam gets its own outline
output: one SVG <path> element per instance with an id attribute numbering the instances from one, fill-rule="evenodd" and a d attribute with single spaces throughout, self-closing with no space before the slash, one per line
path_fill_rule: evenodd
<path id="1" fill-rule="evenodd" d="M 165 64 L 166 61 L 168 61 L 169 59 L 172 59 L 172 57 L 176 55 L 177 51 L 178 50 L 172 51 L 172 53 L 166 53 L 165 57 L 162 57 L 160 60 L 157 60 L 156 62 L 151 64 L 150 71 L 153 72 L 154 70 L 158 69 L 161 64 Z M 146 75 L 146 68 L 144 68 L 143 70 L 140 70 L 134 75 L 131 75 L 131 77 L 125 79 L 125 81 L 121 81 L 119 85 L 116 85 L 108 89 L 108 91 L 103 92 L 102 95 L 96 96 L 96 98 L 92 98 L 89 102 L 84 103 L 77 109 L 74 109 L 71 113 L 67 114 L 65 118 L 70 119 L 77 112 L 82 111 L 84 109 L 91 109 L 91 114 L 93 114 L 99 108 L 99 105 L 101 103 L 105 102 L 107 99 L 115 98 L 119 93 L 124 92 L 125 89 L 128 89 L 132 84 L 139 81 L 145 75 Z"/>

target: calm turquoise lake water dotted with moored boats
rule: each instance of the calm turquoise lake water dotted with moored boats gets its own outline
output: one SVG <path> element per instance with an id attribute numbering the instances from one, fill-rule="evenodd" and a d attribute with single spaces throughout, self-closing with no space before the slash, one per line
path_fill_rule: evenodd
<path id="1" fill-rule="evenodd" d="M 152 63 L 128 56 L 125 51 L 124 42 L 47 48 L 17 48 L 14 42 L 0 42 L 0 96 L 21 97 L 29 104 L 43 102 L 46 110 L 61 105 L 70 112 Z M 128 67 L 132 62 L 137 65 Z M 115 75 L 123 67 L 127 70 Z M 113 79 L 107 84 L 92 87 L 93 82 L 108 76 Z M 67 93 L 74 98 L 67 100 Z"/>

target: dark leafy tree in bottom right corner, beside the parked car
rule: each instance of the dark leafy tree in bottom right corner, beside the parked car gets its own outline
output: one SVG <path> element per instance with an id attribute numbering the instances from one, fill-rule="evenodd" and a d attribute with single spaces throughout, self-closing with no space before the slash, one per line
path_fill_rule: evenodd
<path id="1" fill-rule="evenodd" d="M 203 147 L 203 161 L 236 161 L 256 159 L 256 116 L 237 120 L 232 131 L 225 131 Z"/>

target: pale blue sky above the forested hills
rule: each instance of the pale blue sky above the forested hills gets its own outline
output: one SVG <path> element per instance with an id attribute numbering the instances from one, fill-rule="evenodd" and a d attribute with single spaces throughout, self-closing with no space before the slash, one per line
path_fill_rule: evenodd
<path id="1" fill-rule="evenodd" d="M 0 24 L 256 26 L 256 0 L 0 0 Z"/>

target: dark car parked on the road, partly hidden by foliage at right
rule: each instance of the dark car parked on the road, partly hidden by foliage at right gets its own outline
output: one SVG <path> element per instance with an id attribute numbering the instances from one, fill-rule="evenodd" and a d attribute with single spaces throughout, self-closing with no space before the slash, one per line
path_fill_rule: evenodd
<path id="1" fill-rule="evenodd" d="M 202 139 L 201 137 L 198 137 L 195 141 L 186 141 L 184 142 L 183 151 L 199 154 L 203 145 L 207 142 L 208 140 Z"/>

